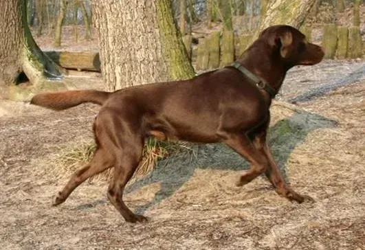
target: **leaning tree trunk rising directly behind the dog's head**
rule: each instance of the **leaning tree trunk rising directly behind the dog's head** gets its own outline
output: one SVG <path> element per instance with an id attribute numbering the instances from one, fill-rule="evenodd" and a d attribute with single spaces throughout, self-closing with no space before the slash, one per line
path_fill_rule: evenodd
<path id="1" fill-rule="evenodd" d="M 316 0 L 272 0 L 267 3 L 267 8 L 253 40 L 265 28 L 276 24 L 287 24 L 296 27 L 302 26 Z"/>

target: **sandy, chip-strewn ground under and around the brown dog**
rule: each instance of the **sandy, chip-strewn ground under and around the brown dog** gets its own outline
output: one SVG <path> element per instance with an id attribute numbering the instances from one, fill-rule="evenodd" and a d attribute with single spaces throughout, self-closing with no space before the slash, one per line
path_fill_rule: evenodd
<path id="1" fill-rule="evenodd" d="M 126 204 L 151 219 L 135 225 L 107 201 L 104 181 L 50 206 L 71 172 L 44 161 L 91 139 L 97 106 L 56 113 L 0 100 L 1 249 L 365 249 L 364 67 L 296 67 L 278 98 L 296 105 L 272 107 L 276 160 L 291 186 L 316 203 L 290 203 L 263 177 L 236 188 L 248 164 L 208 145 L 189 159 L 160 162 L 129 186 Z M 86 75 L 75 78 L 78 87 L 102 87 Z"/>

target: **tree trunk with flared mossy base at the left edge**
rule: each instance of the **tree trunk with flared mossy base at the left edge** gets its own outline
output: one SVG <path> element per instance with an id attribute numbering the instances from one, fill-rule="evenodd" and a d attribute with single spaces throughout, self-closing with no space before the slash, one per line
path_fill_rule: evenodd
<path id="1" fill-rule="evenodd" d="M 36 45 L 29 27 L 25 0 L 1 1 L 0 86 L 19 83 L 26 76 L 38 84 L 43 76 L 60 77 L 61 69 Z"/>

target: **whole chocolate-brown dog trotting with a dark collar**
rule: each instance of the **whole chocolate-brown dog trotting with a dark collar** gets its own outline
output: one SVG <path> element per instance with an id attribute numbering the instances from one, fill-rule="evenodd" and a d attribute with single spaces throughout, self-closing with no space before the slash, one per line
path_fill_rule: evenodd
<path id="1" fill-rule="evenodd" d="M 82 102 L 102 105 L 93 126 L 98 145 L 93 159 L 74 173 L 54 205 L 63 203 L 89 177 L 114 167 L 115 175 L 107 192 L 109 201 L 126 221 L 146 220 L 126 207 L 122 194 L 141 160 L 148 136 L 224 142 L 252 163 L 237 185 L 245 185 L 265 173 L 278 194 L 302 203 L 310 197 L 285 184 L 267 147 L 269 106 L 288 69 L 314 65 L 323 56 L 323 49 L 307 43 L 294 27 L 276 25 L 264 30 L 234 67 L 190 80 L 146 84 L 113 93 L 81 90 L 34 96 L 32 104 L 54 110 L 69 109 Z"/>

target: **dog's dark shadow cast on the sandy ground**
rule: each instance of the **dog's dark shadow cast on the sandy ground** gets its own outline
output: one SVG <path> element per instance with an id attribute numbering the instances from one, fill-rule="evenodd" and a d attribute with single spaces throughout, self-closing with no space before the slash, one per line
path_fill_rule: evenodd
<path id="1" fill-rule="evenodd" d="M 273 117 L 272 120 L 274 125 L 269 129 L 269 146 L 272 148 L 276 162 L 287 182 L 287 160 L 296 146 L 302 144 L 307 135 L 313 130 L 336 126 L 335 121 L 306 111 L 295 111 L 289 117 L 283 119 Z M 195 147 L 196 155 L 192 155 L 190 159 L 184 156 L 159 161 L 153 172 L 126 188 L 126 193 L 130 193 L 142 188 L 144 185 L 160 183 L 160 189 L 153 200 L 137 207 L 135 212 L 144 214 L 149 207 L 172 196 L 192 177 L 197 168 L 233 171 L 250 168 L 247 161 L 223 144 L 206 144 Z M 237 172 L 238 177 L 239 172 Z"/>

